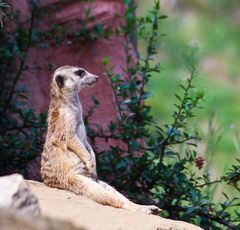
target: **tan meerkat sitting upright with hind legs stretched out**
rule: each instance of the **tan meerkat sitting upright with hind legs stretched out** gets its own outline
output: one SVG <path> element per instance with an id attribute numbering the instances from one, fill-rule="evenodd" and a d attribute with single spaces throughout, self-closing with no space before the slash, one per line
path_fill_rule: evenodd
<path id="1" fill-rule="evenodd" d="M 97 177 L 95 153 L 87 140 L 78 95 L 97 80 L 96 75 L 76 66 L 60 67 L 52 75 L 42 179 L 49 187 L 69 190 L 103 205 L 158 214 L 158 207 L 133 203 Z"/>

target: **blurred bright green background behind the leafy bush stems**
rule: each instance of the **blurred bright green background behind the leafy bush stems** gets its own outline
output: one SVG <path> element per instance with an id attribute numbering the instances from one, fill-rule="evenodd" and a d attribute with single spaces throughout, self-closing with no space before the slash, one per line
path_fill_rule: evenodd
<path id="1" fill-rule="evenodd" d="M 153 0 L 136 3 L 137 15 L 145 15 Z M 161 13 L 168 16 L 160 26 L 166 35 L 158 42 L 162 73 L 151 79 L 153 97 L 147 103 L 159 123 L 171 122 L 174 94 L 188 76 L 185 49 L 198 47 L 196 86 L 205 91 L 205 101 L 193 125 L 200 128 L 203 139 L 198 150 L 211 163 L 214 179 L 240 155 L 240 1 L 162 0 Z"/>

